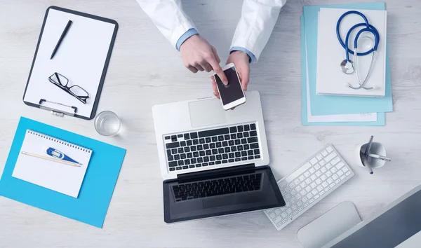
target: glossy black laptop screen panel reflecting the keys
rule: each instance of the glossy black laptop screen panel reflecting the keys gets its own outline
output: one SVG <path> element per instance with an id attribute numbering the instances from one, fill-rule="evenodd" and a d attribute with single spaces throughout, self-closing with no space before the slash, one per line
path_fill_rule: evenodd
<path id="1" fill-rule="evenodd" d="M 166 223 L 285 205 L 269 166 L 164 181 L 163 198 Z"/>

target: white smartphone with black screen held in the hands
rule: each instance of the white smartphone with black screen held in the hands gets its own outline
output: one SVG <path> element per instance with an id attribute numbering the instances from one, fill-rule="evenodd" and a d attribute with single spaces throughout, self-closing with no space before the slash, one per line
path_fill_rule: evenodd
<path id="1" fill-rule="evenodd" d="M 227 64 L 224 68 L 224 74 L 227 76 L 228 84 L 224 85 L 217 74 L 215 76 L 216 86 L 220 93 L 222 107 L 225 110 L 232 109 L 246 102 L 239 74 L 237 74 L 234 63 Z"/>

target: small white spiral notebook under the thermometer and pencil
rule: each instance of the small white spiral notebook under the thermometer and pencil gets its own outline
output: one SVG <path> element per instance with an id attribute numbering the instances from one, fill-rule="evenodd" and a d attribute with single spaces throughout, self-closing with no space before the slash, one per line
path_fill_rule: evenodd
<path id="1" fill-rule="evenodd" d="M 50 147 L 81 165 L 71 166 L 44 159 L 51 158 L 46 154 L 46 149 Z M 22 152 L 32 153 L 34 156 Z M 28 129 L 12 177 L 77 198 L 91 155 L 90 149 Z"/>

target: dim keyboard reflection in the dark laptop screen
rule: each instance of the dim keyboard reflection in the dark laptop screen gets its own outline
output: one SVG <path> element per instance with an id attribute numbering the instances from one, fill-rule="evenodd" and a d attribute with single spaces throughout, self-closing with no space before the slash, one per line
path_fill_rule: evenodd
<path id="1" fill-rule="evenodd" d="M 175 201 L 260 190 L 262 174 L 248 174 L 173 186 Z"/>

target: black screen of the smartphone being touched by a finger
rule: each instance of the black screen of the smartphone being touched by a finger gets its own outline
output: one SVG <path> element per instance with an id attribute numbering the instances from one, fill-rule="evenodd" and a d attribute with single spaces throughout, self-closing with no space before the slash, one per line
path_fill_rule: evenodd
<path id="1" fill-rule="evenodd" d="M 236 74 L 235 67 L 228 68 L 224 71 L 227 76 L 228 84 L 224 85 L 218 75 L 215 74 L 215 81 L 220 92 L 222 104 L 227 105 L 238 99 L 244 97 L 243 90 L 241 89 L 241 83 Z"/>

